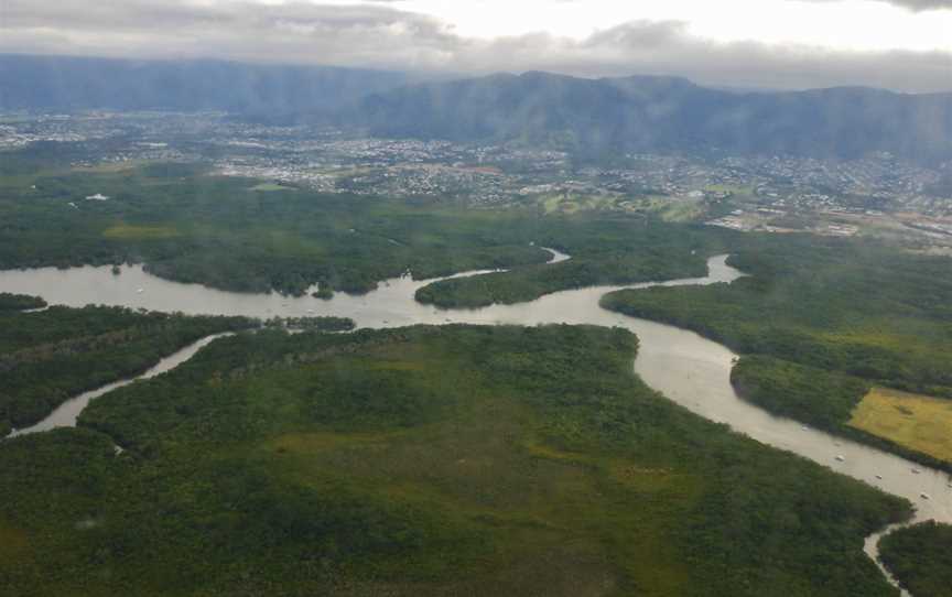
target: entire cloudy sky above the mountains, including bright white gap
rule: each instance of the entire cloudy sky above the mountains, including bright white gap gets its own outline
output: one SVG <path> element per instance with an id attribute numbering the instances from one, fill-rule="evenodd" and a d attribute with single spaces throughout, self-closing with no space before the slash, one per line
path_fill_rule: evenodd
<path id="1" fill-rule="evenodd" d="M 0 0 L 0 53 L 952 91 L 952 0 Z"/>

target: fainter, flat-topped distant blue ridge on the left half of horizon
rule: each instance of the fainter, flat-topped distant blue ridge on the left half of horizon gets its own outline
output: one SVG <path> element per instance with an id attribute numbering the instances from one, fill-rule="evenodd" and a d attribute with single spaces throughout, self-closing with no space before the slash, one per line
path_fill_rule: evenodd
<path id="1" fill-rule="evenodd" d="M 8 110 L 286 115 L 338 109 L 405 83 L 399 73 L 351 68 L 0 55 L 0 109 Z"/>

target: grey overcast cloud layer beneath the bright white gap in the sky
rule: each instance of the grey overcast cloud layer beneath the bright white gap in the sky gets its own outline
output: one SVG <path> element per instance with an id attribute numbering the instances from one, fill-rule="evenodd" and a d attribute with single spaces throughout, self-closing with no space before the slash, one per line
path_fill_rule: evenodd
<path id="1" fill-rule="evenodd" d="M 892 3 L 922 10 L 952 2 Z M 934 51 L 855 51 L 715 42 L 680 20 L 626 22 L 585 37 L 545 32 L 474 37 L 398 6 L 0 0 L 0 52 L 208 57 L 461 75 L 529 69 L 581 76 L 669 74 L 731 86 L 952 90 L 952 44 Z"/>

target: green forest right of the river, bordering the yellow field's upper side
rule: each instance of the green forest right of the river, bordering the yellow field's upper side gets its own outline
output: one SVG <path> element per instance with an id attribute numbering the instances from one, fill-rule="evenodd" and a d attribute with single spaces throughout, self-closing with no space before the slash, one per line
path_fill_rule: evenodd
<path id="1" fill-rule="evenodd" d="M 621 291 L 603 306 L 729 346 L 744 355 L 734 381 L 746 398 L 827 430 L 858 433 L 845 424 L 873 384 L 952 398 L 946 258 L 813 237 L 809 243 L 750 237 L 732 263 L 751 276 Z"/>

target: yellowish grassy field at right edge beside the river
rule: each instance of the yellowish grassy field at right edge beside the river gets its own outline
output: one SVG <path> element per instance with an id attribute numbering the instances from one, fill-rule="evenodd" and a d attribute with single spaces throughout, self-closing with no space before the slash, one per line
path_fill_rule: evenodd
<path id="1" fill-rule="evenodd" d="M 952 463 L 952 401 L 874 388 L 850 425 Z"/>

